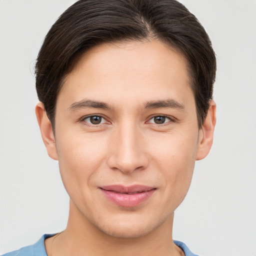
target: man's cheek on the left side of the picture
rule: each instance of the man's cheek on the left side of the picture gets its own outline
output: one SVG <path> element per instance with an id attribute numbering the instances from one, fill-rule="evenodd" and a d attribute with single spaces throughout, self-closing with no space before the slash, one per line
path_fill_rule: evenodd
<path id="1" fill-rule="evenodd" d="M 79 137 L 79 138 L 77 138 Z M 105 158 L 104 143 L 93 136 L 69 136 L 56 139 L 59 170 L 64 186 L 69 190 L 84 190 Z M 71 191 L 70 191 L 71 192 Z M 69 194 L 70 195 L 70 194 Z"/>

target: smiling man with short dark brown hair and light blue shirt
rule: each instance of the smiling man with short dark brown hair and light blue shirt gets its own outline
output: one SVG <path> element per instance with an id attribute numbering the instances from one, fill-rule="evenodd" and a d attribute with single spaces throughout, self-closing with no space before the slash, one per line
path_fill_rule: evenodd
<path id="1" fill-rule="evenodd" d="M 36 116 L 70 197 L 65 230 L 10 255 L 194 255 L 173 214 L 215 126 L 215 56 L 175 0 L 80 0 L 47 33 Z"/>

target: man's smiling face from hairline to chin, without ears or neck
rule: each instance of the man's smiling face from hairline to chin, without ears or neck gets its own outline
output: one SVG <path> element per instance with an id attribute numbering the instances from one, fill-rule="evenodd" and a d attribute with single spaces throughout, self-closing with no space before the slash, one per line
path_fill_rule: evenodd
<path id="1" fill-rule="evenodd" d="M 185 59 L 159 41 L 101 44 L 67 75 L 55 115 L 70 212 L 99 230 L 136 237 L 183 200 L 199 157 Z"/>

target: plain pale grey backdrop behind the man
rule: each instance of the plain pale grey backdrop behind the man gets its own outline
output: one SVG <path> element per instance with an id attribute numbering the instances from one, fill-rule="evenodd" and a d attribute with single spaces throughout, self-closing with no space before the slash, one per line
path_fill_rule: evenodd
<path id="1" fill-rule="evenodd" d="M 68 196 L 34 114 L 33 67 L 55 19 L 74 1 L 0 0 L 0 253 L 65 228 Z M 177 208 L 173 238 L 194 253 L 256 255 L 256 1 L 182 0 L 217 56 L 217 125 Z"/>

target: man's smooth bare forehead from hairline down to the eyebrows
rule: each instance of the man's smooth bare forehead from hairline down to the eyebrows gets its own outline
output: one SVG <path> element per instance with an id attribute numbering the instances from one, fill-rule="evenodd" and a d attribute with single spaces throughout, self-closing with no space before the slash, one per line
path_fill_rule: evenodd
<path id="1" fill-rule="evenodd" d="M 86 51 L 66 76 L 59 97 L 79 101 L 89 95 L 117 102 L 126 93 L 131 100 L 146 102 L 182 98 L 187 90 L 191 92 L 183 55 L 161 41 L 127 41 Z"/>

